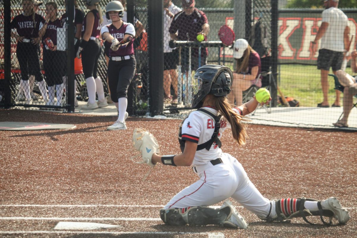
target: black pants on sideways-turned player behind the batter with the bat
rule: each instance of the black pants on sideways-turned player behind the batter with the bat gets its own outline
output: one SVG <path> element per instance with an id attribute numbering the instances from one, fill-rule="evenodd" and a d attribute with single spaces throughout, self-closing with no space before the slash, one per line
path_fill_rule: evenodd
<path id="1" fill-rule="evenodd" d="M 98 60 L 102 52 L 99 39 L 89 40 L 86 47 L 82 50 L 82 66 L 83 74 L 87 79 L 89 77 L 97 77 Z"/>

